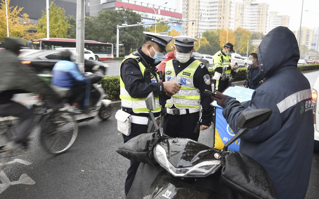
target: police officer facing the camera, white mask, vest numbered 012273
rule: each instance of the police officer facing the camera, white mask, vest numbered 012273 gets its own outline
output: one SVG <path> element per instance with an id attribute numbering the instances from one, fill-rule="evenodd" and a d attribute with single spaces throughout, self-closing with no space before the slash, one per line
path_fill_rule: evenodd
<path id="1" fill-rule="evenodd" d="M 205 89 L 211 91 L 210 75 L 202 62 L 191 57 L 197 39 L 185 35 L 174 39 L 176 59 L 166 62 L 163 81 L 174 81 L 182 87 L 166 101 L 163 132 L 168 136 L 198 141 L 199 133 L 194 133 L 194 128 L 199 120 L 201 105 L 203 112 L 200 130 L 208 129 L 212 121 L 212 100 L 205 94 Z"/>

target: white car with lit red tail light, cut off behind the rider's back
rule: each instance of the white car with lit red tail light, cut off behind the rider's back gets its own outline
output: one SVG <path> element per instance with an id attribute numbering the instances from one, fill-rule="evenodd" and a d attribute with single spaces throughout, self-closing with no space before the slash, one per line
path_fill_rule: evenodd
<path id="1" fill-rule="evenodd" d="M 315 85 L 312 89 L 312 114 L 314 118 L 315 128 L 315 149 L 319 149 L 319 103 L 318 103 L 318 91 L 319 91 L 319 77 L 317 78 Z"/>

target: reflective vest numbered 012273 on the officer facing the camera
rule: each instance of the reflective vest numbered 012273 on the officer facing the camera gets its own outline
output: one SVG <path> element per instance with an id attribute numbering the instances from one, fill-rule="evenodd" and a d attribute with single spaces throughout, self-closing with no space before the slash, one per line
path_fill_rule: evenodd
<path id="1" fill-rule="evenodd" d="M 166 100 L 165 107 L 170 108 L 200 108 L 200 92 L 199 89 L 194 87 L 193 76 L 197 67 L 202 64 L 200 61 L 195 60 L 177 76 L 173 67 L 173 60 L 167 61 L 165 65 L 165 81 L 174 81 L 182 84 L 181 90 L 173 95 L 171 99 Z"/>

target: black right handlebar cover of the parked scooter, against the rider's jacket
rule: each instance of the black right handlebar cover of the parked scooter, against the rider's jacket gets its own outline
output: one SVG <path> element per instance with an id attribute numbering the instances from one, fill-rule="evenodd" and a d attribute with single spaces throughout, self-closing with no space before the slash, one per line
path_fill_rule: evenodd
<path id="1" fill-rule="evenodd" d="M 249 156 L 236 151 L 222 154 L 220 183 L 244 197 L 275 199 L 276 193 L 267 171 Z"/>

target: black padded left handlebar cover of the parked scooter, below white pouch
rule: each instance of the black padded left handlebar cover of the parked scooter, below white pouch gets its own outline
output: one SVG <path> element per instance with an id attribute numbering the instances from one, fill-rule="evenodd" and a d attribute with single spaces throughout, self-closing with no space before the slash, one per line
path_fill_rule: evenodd
<path id="1" fill-rule="evenodd" d="M 165 135 L 159 137 L 157 133 L 144 133 L 124 143 L 116 152 L 129 160 L 157 166 L 159 164 L 154 158 L 153 149 L 159 140 L 167 138 Z"/>

